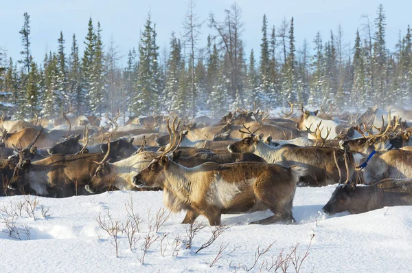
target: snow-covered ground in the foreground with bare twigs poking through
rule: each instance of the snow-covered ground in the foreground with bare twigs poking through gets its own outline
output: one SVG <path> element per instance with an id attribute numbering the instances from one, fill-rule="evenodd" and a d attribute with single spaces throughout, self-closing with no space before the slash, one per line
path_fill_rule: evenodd
<path id="1" fill-rule="evenodd" d="M 293 209 L 297 225 L 247 224 L 268 217 L 271 212 L 223 215 L 222 221 L 229 228 L 198 254 L 196 250 L 209 240 L 213 228 L 207 225 L 195 234 L 192 249 L 186 250 L 189 225 L 181 225 L 184 213 L 172 215 L 159 226 L 158 232 L 148 233 L 150 225 L 155 230 L 156 214 L 163 208 L 161 192 L 119 191 L 66 199 L 37 197 L 36 220 L 27 215 L 24 206 L 16 219 L 16 226 L 31 228 L 30 240 L 25 240 L 25 234 L 21 234 L 22 241 L 11 239 L 1 220 L 3 263 L 0 272 L 267 272 L 266 265 L 270 267 L 272 259 L 277 259 L 282 250 L 285 257 L 297 243 L 295 253 L 301 260 L 312 234 L 309 254 L 300 272 L 411 272 L 412 206 L 328 217 L 320 211 L 334 187 L 297 189 Z M 12 206 L 19 214 L 18 205 L 25 203 L 25 198 L 0 197 L 2 219 L 7 219 L 5 210 L 12 213 Z M 126 234 L 119 233 L 119 257 L 116 258 L 113 237 L 99 228 L 96 217 L 101 213 L 102 221 L 107 220 L 109 211 L 114 220 L 126 223 L 125 204 L 130 204 L 130 198 L 135 212 L 143 220 L 139 224 L 140 232 L 135 234 L 135 238 L 141 239 L 130 250 Z M 30 197 L 30 202 L 33 201 L 34 197 Z M 49 207 L 48 213 L 52 215 L 44 218 L 41 206 Z M 207 224 L 203 217 L 196 223 L 201 221 Z M 150 241 L 159 238 L 148 248 L 142 265 L 139 260 L 148 234 Z M 251 268 L 258 248 L 262 252 L 271 243 L 271 248 Z M 218 256 L 220 259 L 211 265 L 221 247 L 225 249 Z M 287 272 L 295 272 L 293 263 Z"/>

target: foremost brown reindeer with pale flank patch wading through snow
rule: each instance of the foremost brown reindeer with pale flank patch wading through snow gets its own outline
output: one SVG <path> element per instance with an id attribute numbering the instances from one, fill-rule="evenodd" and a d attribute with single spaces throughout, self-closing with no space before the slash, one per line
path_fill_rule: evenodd
<path id="1" fill-rule="evenodd" d="M 303 173 L 299 166 L 256 162 L 209 162 L 186 168 L 162 153 L 133 178 L 133 183 L 141 188 L 163 188 L 166 207 L 172 212 L 187 210 L 183 223 L 193 223 L 203 215 L 211 226 L 217 226 L 222 214 L 267 209 L 275 215 L 253 223 L 294 223 L 293 197 Z"/>

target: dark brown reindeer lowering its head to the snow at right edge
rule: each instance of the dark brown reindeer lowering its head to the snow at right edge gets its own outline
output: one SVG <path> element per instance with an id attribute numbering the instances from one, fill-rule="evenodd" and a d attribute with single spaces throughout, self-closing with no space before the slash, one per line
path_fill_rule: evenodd
<path id="1" fill-rule="evenodd" d="M 334 160 L 336 162 L 336 156 Z M 337 162 L 336 166 L 340 173 Z M 346 179 L 341 184 L 339 179 L 339 185 L 322 208 L 323 212 L 334 215 L 347 210 L 351 214 L 357 214 L 385 206 L 412 205 L 412 179 L 383 179 L 371 186 L 356 186 L 354 182 L 348 184 L 349 181 Z"/>

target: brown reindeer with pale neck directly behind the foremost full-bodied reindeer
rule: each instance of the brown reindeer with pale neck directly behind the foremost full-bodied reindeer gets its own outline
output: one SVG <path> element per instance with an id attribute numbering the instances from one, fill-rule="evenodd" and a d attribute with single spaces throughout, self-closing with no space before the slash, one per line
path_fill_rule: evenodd
<path id="1" fill-rule="evenodd" d="M 342 155 L 341 149 L 330 147 L 301 147 L 293 144 L 280 146 L 269 146 L 263 141 L 263 134 L 255 135 L 255 131 L 236 142 L 230 144 L 227 149 L 231 153 L 254 153 L 259 155 L 266 162 L 280 164 L 282 166 L 299 165 L 307 169 L 307 173 L 302 182 L 309 186 L 325 186 L 334 184 L 339 179 L 333 164 L 333 152 Z M 363 156 L 350 154 L 350 162 L 360 162 Z M 343 164 L 343 162 L 341 162 Z M 351 165 L 350 176 L 354 174 L 355 168 Z"/>

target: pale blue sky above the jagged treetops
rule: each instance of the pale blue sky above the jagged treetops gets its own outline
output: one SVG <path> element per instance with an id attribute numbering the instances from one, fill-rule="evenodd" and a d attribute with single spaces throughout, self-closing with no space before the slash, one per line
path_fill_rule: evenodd
<path id="1" fill-rule="evenodd" d="M 201 20 L 206 20 L 211 11 L 216 18 L 221 19 L 224 10 L 234 1 L 197 0 L 195 3 L 195 12 Z M 336 32 L 339 23 L 343 26 L 345 42 L 352 47 L 356 28 L 364 22 L 361 15 L 369 14 L 373 20 L 379 3 L 385 8 L 387 47 L 390 50 L 393 50 L 398 40 L 399 31 L 404 34 L 407 25 L 412 21 L 412 1 L 238 0 L 237 3 L 242 8 L 242 38 L 247 55 L 251 48 L 255 50 L 255 54 L 259 52 L 260 29 L 265 13 L 268 25 L 275 26 L 279 26 L 284 18 L 289 21 L 294 17 L 298 49 L 304 39 L 310 42 L 312 48 L 312 41 L 318 30 L 324 40 L 329 39 L 330 30 Z M 56 50 L 60 30 L 65 36 L 67 54 L 73 33 L 76 33 L 82 50 L 89 17 L 92 17 L 95 23 L 100 21 L 104 43 L 107 44 L 113 35 L 119 51 L 126 55 L 130 48 L 137 47 L 139 32 L 150 10 L 152 20 L 157 25 L 158 45 L 162 48 L 168 46 L 172 31 L 175 31 L 177 36 L 182 32 L 187 4 L 188 0 L 0 0 L 0 47 L 5 47 L 14 60 L 20 58 L 19 30 L 23 25 L 23 12 L 28 12 L 31 20 L 31 51 L 36 61 L 42 61 L 47 50 Z M 202 28 L 202 45 L 205 44 L 205 37 L 209 32 L 211 30 L 205 24 Z"/>

